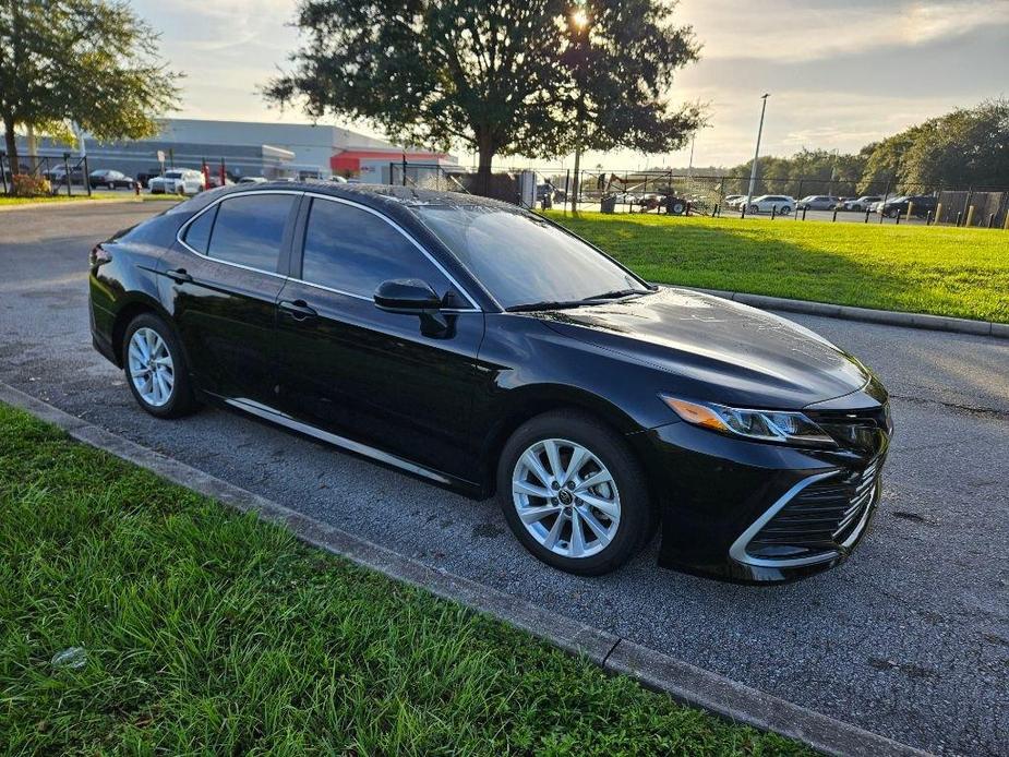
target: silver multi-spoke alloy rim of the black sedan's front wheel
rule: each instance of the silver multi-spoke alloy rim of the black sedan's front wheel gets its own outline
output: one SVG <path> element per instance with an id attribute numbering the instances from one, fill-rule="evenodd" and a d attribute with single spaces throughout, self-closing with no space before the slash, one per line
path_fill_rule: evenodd
<path id="1" fill-rule="evenodd" d="M 563 557 L 598 554 L 620 528 L 613 476 L 590 449 L 567 440 L 542 440 L 519 455 L 512 501 L 532 538 Z"/>

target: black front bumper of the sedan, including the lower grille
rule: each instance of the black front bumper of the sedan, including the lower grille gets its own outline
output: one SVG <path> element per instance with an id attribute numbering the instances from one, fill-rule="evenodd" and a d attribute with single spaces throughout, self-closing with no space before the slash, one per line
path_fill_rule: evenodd
<path id="1" fill-rule="evenodd" d="M 661 507 L 659 564 L 745 584 L 839 565 L 875 514 L 889 435 L 877 428 L 862 448 L 813 449 L 684 422 L 632 434 Z"/>

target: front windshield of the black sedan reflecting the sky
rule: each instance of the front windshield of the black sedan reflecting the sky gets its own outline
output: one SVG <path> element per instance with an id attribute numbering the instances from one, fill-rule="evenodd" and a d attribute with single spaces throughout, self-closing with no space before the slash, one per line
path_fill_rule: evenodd
<path id="1" fill-rule="evenodd" d="M 412 209 L 503 308 L 648 290 L 597 250 L 532 214 L 480 205 Z"/>

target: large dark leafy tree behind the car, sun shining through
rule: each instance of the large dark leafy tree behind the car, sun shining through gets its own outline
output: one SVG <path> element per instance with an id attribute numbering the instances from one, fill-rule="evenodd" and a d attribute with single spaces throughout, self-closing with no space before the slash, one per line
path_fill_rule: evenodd
<path id="1" fill-rule="evenodd" d="M 689 111 L 666 113 L 660 94 L 696 56 L 689 31 L 671 25 L 668 3 L 581 8 L 591 29 L 576 38 L 567 0 L 301 0 L 307 39 L 264 94 L 408 144 L 466 144 L 484 187 L 495 155 L 678 145 L 696 124 Z M 578 140 L 573 125 L 587 122 Z"/>

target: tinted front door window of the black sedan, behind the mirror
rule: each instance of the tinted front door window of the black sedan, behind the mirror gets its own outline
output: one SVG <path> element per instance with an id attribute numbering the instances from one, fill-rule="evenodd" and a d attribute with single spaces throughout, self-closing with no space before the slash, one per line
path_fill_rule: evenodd
<path id="1" fill-rule="evenodd" d="M 312 201 L 301 278 L 368 298 L 393 278 L 419 278 L 443 297 L 449 288 L 434 264 L 389 224 L 326 200 Z"/>

